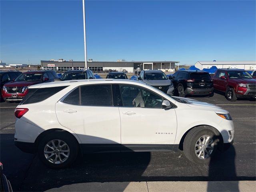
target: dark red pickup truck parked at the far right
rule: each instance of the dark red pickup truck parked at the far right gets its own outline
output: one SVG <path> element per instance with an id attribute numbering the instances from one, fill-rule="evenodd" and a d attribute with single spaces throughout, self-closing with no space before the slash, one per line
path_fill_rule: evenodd
<path id="1" fill-rule="evenodd" d="M 256 79 L 245 70 L 218 69 L 214 77 L 214 89 L 225 92 L 226 99 L 256 98 Z"/>

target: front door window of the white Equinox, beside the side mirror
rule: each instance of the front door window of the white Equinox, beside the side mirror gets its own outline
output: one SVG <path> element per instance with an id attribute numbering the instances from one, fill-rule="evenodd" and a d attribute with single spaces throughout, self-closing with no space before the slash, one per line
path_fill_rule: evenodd
<path id="1" fill-rule="evenodd" d="M 120 85 L 124 107 L 162 108 L 163 98 L 138 86 Z"/>

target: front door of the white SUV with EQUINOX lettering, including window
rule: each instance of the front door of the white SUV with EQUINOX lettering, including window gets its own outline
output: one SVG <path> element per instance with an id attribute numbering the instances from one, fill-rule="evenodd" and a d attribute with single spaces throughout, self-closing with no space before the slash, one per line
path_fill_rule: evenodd
<path id="1" fill-rule="evenodd" d="M 177 122 L 174 108 L 162 109 L 164 98 L 140 86 L 119 85 L 122 151 L 169 149 Z"/>

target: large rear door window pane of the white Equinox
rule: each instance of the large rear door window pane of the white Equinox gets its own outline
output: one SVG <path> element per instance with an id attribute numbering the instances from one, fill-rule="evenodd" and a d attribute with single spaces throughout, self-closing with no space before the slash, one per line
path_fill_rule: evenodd
<path id="1" fill-rule="evenodd" d="M 81 86 L 81 105 L 113 106 L 112 89 L 109 84 Z"/>

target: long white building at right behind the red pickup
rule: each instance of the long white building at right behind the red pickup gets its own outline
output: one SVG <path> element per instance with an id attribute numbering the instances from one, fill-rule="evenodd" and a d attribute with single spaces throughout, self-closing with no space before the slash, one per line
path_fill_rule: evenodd
<path id="1" fill-rule="evenodd" d="M 200 70 L 204 68 L 209 69 L 212 66 L 217 68 L 255 70 L 256 61 L 198 61 L 195 64 L 195 67 Z"/>

